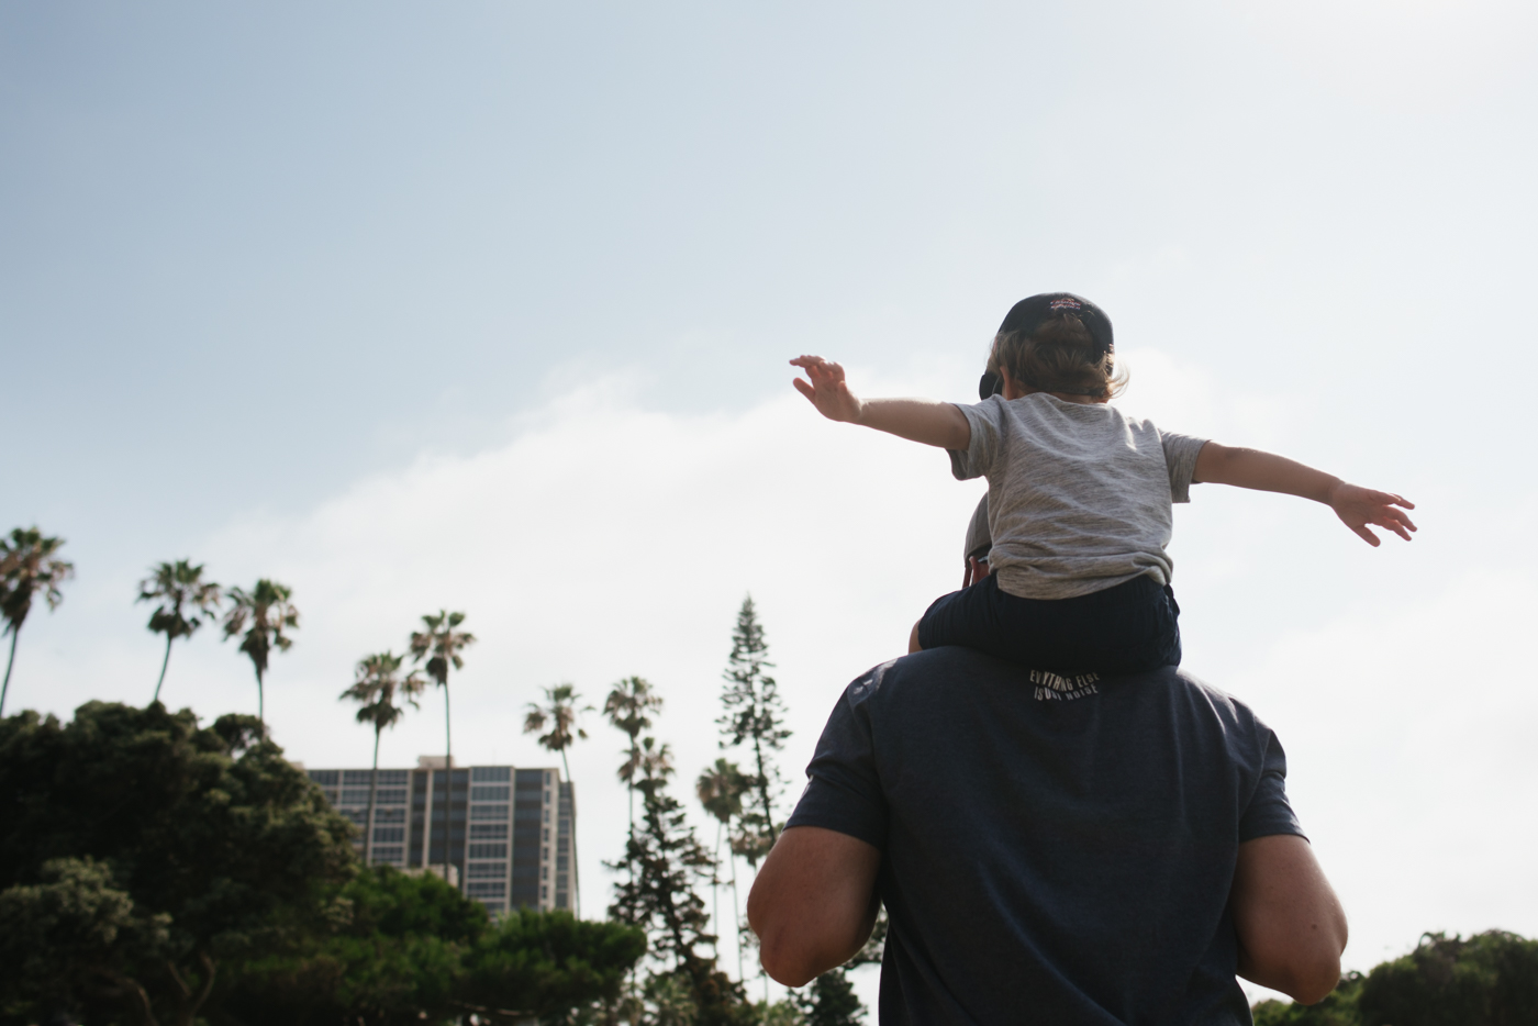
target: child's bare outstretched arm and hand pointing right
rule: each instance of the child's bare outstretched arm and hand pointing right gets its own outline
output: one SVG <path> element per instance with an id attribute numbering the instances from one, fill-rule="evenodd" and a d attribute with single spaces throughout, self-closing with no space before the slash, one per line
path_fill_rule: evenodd
<path id="1" fill-rule="evenodd" d="M 1192 481 L 1237 485 L 1263 492 L 1286 492 L 1287 495 L 1312 498 L 1333 509 L 1341 523 L 1372 546 L 1378 545 L 1378 535 L 1369 531 L 1367 525 L 1386 528 L 1406 541 L 1415 531 L 1415 525 L 1404 512 L 1415 509 L 1415 503 L 1403 495 L 1347 485 L 1332 474 L 1260 449 L 1233 449 L 1209 441 L 1197 454 L 1197 472 L 1192 475 Z"/>

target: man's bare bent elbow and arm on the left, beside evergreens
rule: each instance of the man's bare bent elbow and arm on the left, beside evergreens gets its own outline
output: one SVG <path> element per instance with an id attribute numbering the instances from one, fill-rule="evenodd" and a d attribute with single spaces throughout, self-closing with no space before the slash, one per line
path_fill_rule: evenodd
<path id="1" fill-rule="evenodd" d="M 871 938 L 881 852 L 820 826 L 780 834 L 747 892 L 764 971 L 789 988 L 844 964 Z"/>

